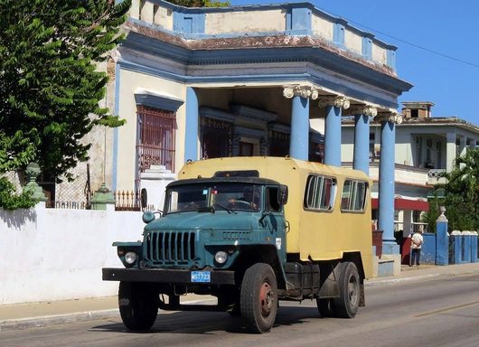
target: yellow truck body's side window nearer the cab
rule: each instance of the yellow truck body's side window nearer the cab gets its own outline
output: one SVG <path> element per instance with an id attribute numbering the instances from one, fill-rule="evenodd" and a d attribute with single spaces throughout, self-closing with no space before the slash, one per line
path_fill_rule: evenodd
<path id="1" fill-rule="evenodd" d="M 331 211 L 336 195 L 336 180 L 319 174 L 307 178 L 305 190 L 305 209 Z"/>

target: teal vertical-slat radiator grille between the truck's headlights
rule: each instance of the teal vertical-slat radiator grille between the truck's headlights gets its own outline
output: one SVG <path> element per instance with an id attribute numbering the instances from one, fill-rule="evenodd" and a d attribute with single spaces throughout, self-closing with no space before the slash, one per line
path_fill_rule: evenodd
<path id="1" fill-rule="evenodd" d="M 146 258 L 170 265 L 187 265 L 194 258 L 194 231 L 154 231 L 146 237 Z"/>

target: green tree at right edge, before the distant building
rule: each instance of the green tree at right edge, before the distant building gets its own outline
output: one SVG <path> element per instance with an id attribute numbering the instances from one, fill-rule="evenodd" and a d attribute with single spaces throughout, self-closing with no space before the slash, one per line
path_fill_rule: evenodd
<path id="1" fill-rule="evenodd" d="M 457 157 L 453 170 L 444 177 L 446 183 L 435 186 L 436 192 L 444 191 L 444 198 L 437 198 L 434 206 L 446 207 L 449 230 L 479 230 L 479 148 Z"/>

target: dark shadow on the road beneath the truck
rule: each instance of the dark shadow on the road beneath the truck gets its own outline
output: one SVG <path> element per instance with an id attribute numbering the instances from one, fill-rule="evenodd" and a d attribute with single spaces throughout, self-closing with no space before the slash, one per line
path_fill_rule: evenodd
<path id="1" fill-rule="evenodd" d="M 316 307 L 281 306 L 277 311 L 275 327 L 309 323 L 312 320 L 324 319 Z M 210 334 L 218 331 L 227 333 L 249 333 L 241 317 L 225 312 L 174 312 L 158 314 L 153 327 L 145 332 L 130 332 L 121 322 L 93 326 L 90 332 L 109 333 L 191 333 Z"/>

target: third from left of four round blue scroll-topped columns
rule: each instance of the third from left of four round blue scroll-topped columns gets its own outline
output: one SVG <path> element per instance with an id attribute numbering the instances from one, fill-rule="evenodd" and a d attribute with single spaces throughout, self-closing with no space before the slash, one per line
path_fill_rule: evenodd
<path id="1" fill-rule="evenodd" d="M 354 158 L 352 168 L 370 174 L 370 117 L 354 116 Z"/>

